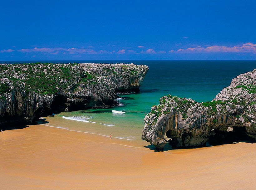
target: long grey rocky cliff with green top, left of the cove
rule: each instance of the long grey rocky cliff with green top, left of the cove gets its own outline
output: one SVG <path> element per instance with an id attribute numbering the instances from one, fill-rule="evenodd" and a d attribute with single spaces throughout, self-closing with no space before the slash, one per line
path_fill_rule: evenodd
<path id="1" fill-rule="evenodd" d="M 116 104 L 116 93 L 138 91 L 147 71 L 134 64 L 1 64 L 0 126 Z"/>

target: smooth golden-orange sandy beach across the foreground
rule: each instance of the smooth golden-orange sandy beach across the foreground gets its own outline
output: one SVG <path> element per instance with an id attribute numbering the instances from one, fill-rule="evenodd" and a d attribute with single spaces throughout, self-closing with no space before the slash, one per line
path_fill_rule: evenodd
<path id="1" fill-rule="evenodd" d="M 253 190 L 256 144 L 155 152 L 45 125 L 0 134 L 1 190 Z"/>

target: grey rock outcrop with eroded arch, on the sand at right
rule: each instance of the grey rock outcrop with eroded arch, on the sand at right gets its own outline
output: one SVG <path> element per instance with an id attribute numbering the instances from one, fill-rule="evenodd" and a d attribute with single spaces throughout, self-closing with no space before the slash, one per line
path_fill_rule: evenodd
<path id="1" fill-rule="evenodd" d="M 256 69 L 232 80 L 211 102 L 164 96 L 144 118 L 142 139 L 163 149 L 256 139 Z"/>

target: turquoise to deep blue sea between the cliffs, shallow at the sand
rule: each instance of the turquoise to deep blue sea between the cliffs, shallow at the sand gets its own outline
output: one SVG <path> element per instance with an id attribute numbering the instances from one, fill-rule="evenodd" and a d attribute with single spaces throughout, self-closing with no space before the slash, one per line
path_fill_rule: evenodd
<path id="1" fill-rule="evenodd" d="M 145 113 L 150 112 L 152 105 L 159 103 L 160 97 L 170 94 L 198 102 L 211 101 L 229 86 L 233 78 L 256 68 L 256 61 L 104 61 L 113 62 L 149 66 L 140 93 L 119 95 L 120 106 L 109 109 L 62 112 L 54 117 L 56 126 L 106 136 L 111 133 L 126 140 L 141 140 Z M 125 114 L 115 114 L 112 110 L 125 111 Z"/>

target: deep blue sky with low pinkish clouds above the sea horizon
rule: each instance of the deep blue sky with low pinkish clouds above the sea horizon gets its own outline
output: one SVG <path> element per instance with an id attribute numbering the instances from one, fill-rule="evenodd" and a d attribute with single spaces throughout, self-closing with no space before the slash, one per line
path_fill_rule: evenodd
<path id="1" fill-rule="evenodd" d="M 253 0 L 0 0 L 0 60 L 255 60 L 255 9 Z"/>

